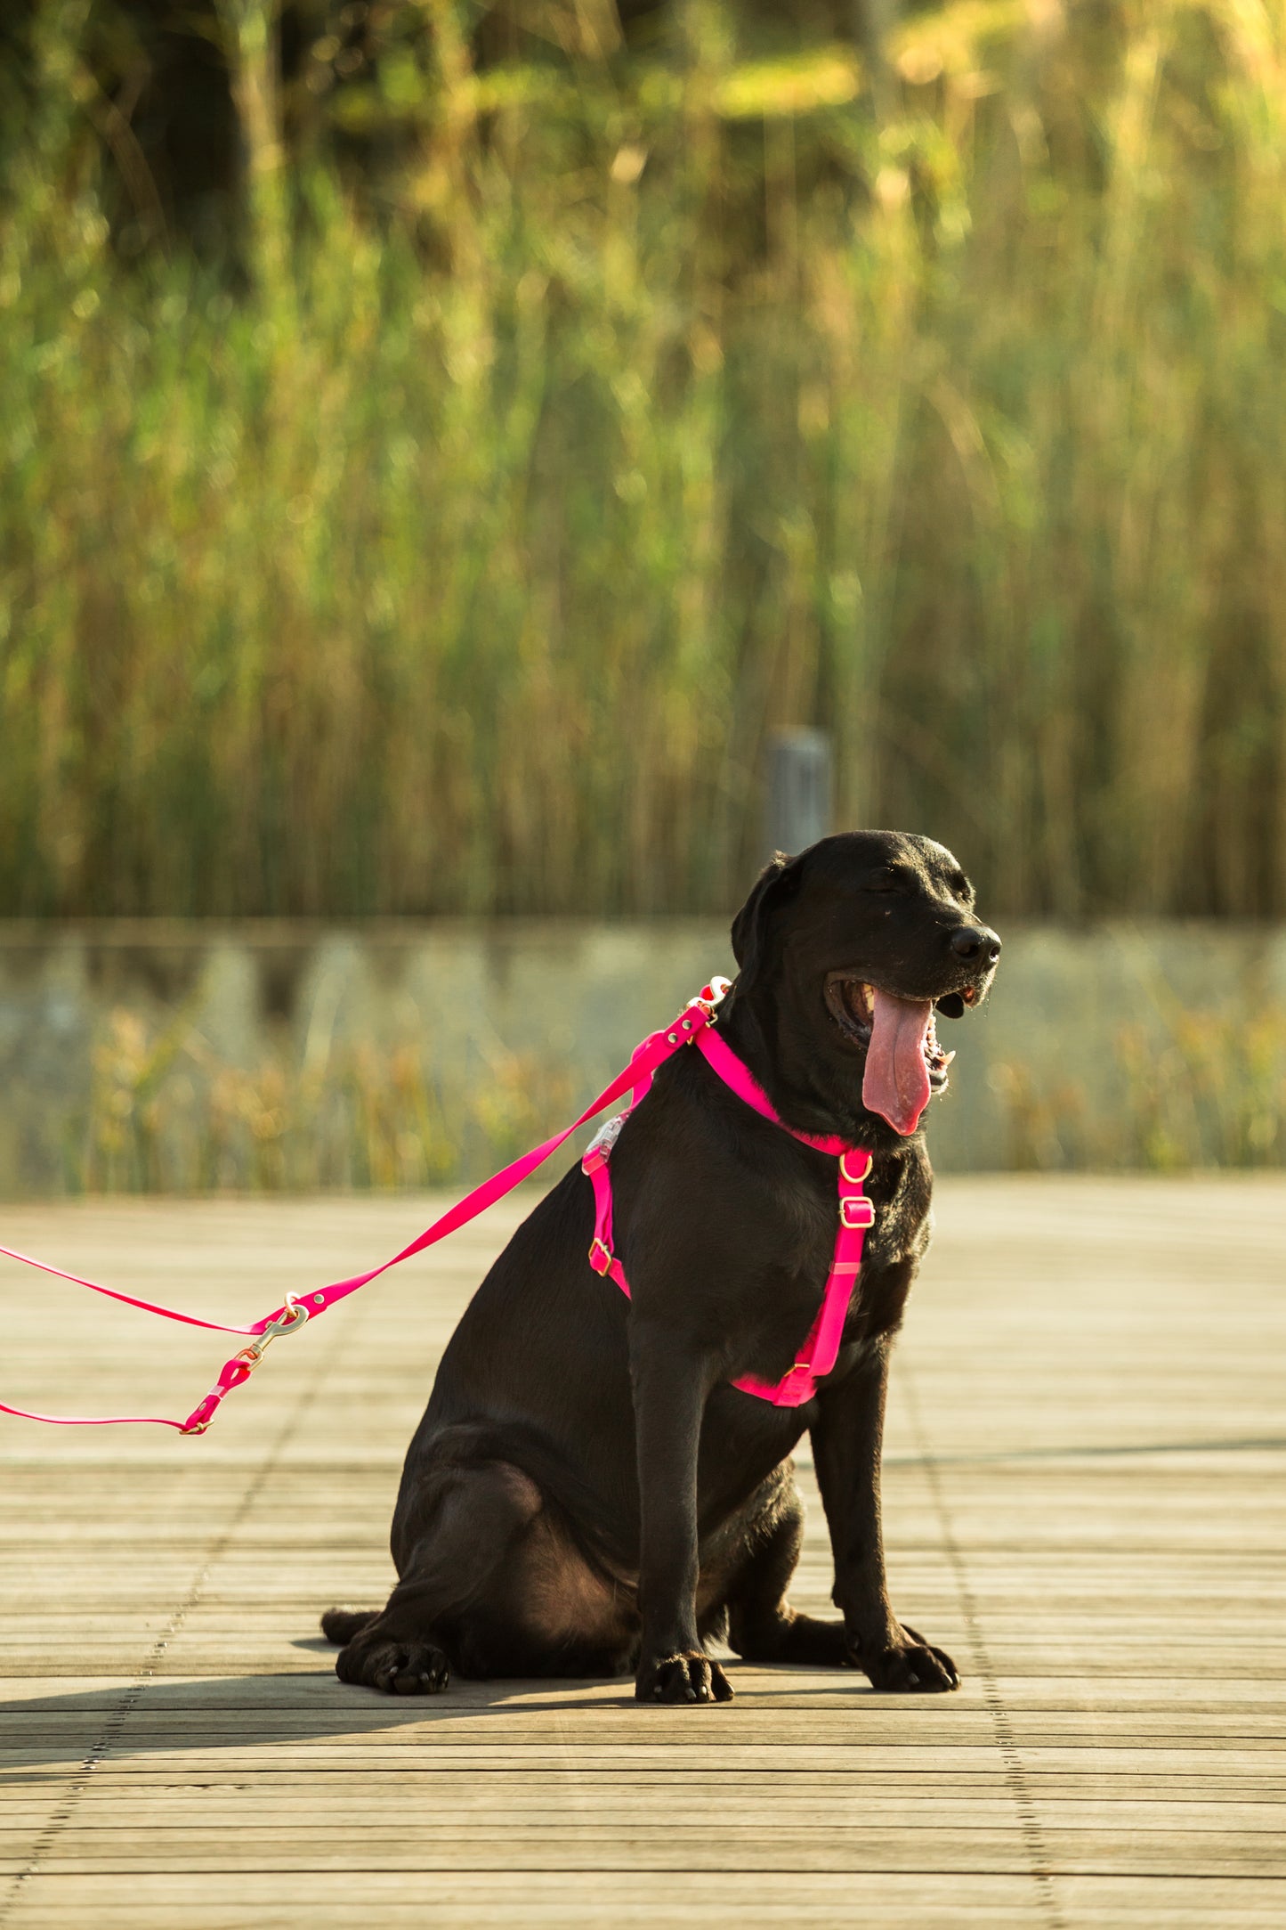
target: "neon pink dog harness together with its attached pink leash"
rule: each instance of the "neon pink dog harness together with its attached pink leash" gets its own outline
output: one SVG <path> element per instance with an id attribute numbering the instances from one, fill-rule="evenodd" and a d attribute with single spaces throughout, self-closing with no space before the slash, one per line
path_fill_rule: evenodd
<path id="1" fill-rule="evenodd" d="M 814 1320 L 812 1332 L 804 1341 L 804 1351 L 798 1361 L 785 1376 L 785 1380 L 775 1386 L 765 1380 L 756 1380 L 752 1374 L 744 1374 L 735 1382 L 746 1393 L 756 1393 L 764 1401 L 773 1401 L 777 1407 L 798 1407 L 802 1401 L 810 1399 L 816 1382 L 821 1374 L 829 1374 L 835 1366 L 835 1357 L 839 1353 L 839 1341 L 844 1328 L 844 1314 L 848 1310 L 848 1301 L 852 1297 L 852 1287 L 862 1266 L 862 1235 L 873 1224 L 873 1208 L 862 1195 L 862 1181 L 870 1172 L 870 1154 L 860 1146 L 848 1146 L 839 1139 L 817 1139 L 810 1133 L 796 1133 L 794 1127 L 785 1125 L 777 1117 L 767 1094 L 756 1085 L 746 1067 L 740 1063 L 735 1052 L 713 1033 L 708 1031 L 713 1019 L 715 1006 L 727 992 L 727 980 L 715 979 L 708 984 L 702 994 L 688 1002 L 688 1006 L 679 1013 L 675 1023 L 665 1033 L 652 1033 L 634 1048 L 630 1063 L 625 1071 L 617 1073 L 609 1087 L 605 1087 L 592 1106 L 573 1119 L 569 1127 L 555 1133 L 553 1139 L 546 1139 L 540 1146 L 524 1152 L 521 1158 L 513 1160 L 499 1173 L 484 1179 L 480 1187 L 467 1193 L 463 1200 L 457 1200 L 440 1220 L 434 1220 L 418 1239 L 413 1239 L 409 1247 L 395 1253 L 391 1260 L 384 1260 L 382 1266 L 372 1266 L 366 1274 L 355 1274 L 351 1280 L 335 1280 L 328 1287 L 320 1287 L 316 1293 L 308 1293 L 303 1299 L 287 1293 L 285 1303 L 276 1309 L 276 1312 L 266 1314 L 253 1326 L 226 1326 L 222 1320 L 199 1320 L 195 1314 L 181 1314 L 174 1307 L 158 1307 L 154 1301 L 141 1301 L 133 1293 L 118 1293 L 114 1287 L 102 1287 L 96 1280 L 81 1280 L 77 1274 L 66 1274 L 60 1266 L 46 1266 L 44 1260 L 33 1260 L 27 1253 L 15 1253 L 12 1247 L 0 1247 L 0 1254 L 10 1260 L 21 1260 L 23 1266 L 35 1266 L 42 1274 L 52 1274 L 58 1280 L 69 1280 L 77 1287 L 89 1287 L 91 1293 L 104 1293 L 112 1301 L 121 1301 L 125 1307 L 137 1307 L 143 1312 L 158 1314 L 162 1320 L 181 1320 L 185 1326 L 206 1328 L 214 1334 L 241 1334 L 249 1339 L 247 1347 L 241 1347 L 231 1361 L 224 1363 L 224 1368 L 206 1393 L 202 1401 L 197 1403 L 187 1420 L 170 1420 L 164 1415 L 33 1415 L 25 1407 L 8 1407 L 0 1401 L 0 1413 L 15 1415 L 19 1420 L 44 1420 L 50 1426 L 60 1428 L 106 1428 L 106 1426 L 160 1426 L 175 1428 L 179 1434 L 204 1434 L 204 1430 L 214 1420 L 220 1403 L 233 1388 L 239 1388 L 251 1378 L 255 1368 L 264 1357 L 270 1341 L 278 1339 L 281 1334 L 297 1334 L 308 1320 L 316 1320 L 318 1314 L 328 1312 L 339 1301 L 347 1299 L 349 1293 L 357 1293 L 368 1282 L 378 1280 L 380 1274 L 388 1274 L 391 1266 L 399 1266 L 416 1253 L 424 1253 L 426 1247 L 438 1245 L 449 1233 L 459 1231 L 459 1227 L 469 1226 L 476 1220 L 480 1212 L 494 1206 L 496 1200 L 513 1193 L 517 1185 L 522 1183 L 530 1173 L 542 1166 L 549 1154 L 557 1152 L 565 1141 L 571 1139 L 588 1119 L 594 1119 L 600 1112 L 605 1112 L 613 1100 L 623 1098 L 625 1092 L 632 1090 L 630 1110 L 644 1096 L 652 1085 L 652 1075 L 657 1065 L 673 1058 L 681 1046 L 696 1044 L 706 1056 L 710 1065 L 719 1073 L 719 1077 L 756 1112 L 764 1114 L 765 1119 L 773 1119 L 783 1131 L 792 1133 L 794 1139 L 804 1141 L 806 1146 L 816 1146 L 817 1152 L 829 1152 L 839 1158 L 839 1233 L 835 1237 L 835 1258 L 831 1262 L 831 1272 L 825 1283 L 825 1293 L 821 1297 L 821 1310 Z M 590 1266 L 598 1274 L 611 1274 L 621 1291 L 629 1295 L 629 1283 L 625 1280 L 625 1268 L 611 1253 L 611 1181 L 607 1179 L 607 1152 L 615 1135 L 625 1123 L 625 1114 L 619 1119 L 611 1119 L 607 1127 L 594 1139 L 590 1150 L 586 1152 L 582 1166 L 590 1175 L 594 1185 L 594 1243 L 590 1247 Z"/>

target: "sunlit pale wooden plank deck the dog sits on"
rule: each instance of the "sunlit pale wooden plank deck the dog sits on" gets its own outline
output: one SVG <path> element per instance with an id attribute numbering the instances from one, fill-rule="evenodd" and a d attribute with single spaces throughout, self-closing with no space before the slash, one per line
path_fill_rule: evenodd
<path id="1" fill-rule="evenodd" d="M 25 1206 L 0 1237 L 256 1316 L 426 1216 Z M 318 1610 L 386 1590 L 407 1436 L 513 1218 L 281 1341 L 204 1440 L 0 1417 L 4 1930 L 1286 1922 L 1286 1185 L 941 1187 L 885 1511 L 960 1695 L 341 1689 Z M 0 1318 L 19 1405 L 185 1413 L 224 1359 L 8 1262 Z"/>

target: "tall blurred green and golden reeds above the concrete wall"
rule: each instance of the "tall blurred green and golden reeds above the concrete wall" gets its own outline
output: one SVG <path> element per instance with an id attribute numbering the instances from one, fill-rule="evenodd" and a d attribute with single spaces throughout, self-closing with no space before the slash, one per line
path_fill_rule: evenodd
<path id="1" fill-rule="evenodd" d="M 968 0 L 873 79 L 704 4 L 488 71 L 418 15 L 283 151 L 220 0 L 224 264 L 121 261 L 37 14 L 0 905 L 723 909 L 804 722 L 995 915 L 1282 915 L 1280 0 Z"/>

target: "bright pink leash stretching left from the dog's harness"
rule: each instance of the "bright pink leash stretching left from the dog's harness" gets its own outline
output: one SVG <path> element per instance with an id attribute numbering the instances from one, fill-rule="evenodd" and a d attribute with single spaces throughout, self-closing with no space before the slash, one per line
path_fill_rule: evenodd
<path id="1" fill-rule="evenodd" d="M 351 1280 L 334 1280 L 328 1287 L 320 1287 L 316 1293 L 305 1295 L 305 1299 L 295 1299 L 291 1293 L 285 1295 L 281 1307 L 276 1312 L 266 1314 L 256 1320 L 255 1326 L 224 1326 L 220 1320 L 199 1320 L 195 1314 L 177 1312 L 174 1307 L 158 1307 L 152 1301 L 141 1301 L 131 1293 L 118 1293 L 112 1287 L 98 1285 L 96 1280 L 81 1280 L 77 1274 L 66 1274 L 58 1266 L 48 1266 L 44 1260 L 33 1260 L 27 1253 L 15 1253 L 12 1247 L 0 1247 L 0 1254 L 10 1260 L 21 1260 L 23 1266 L 35 1266 L 42 1274 L 52 1274 L 58 1280 L 69 1280 L 77 1287 L 89 1287 L 91 1293 L 104 1293 L 112 1301 L 123 1301 L 127 1307 L 139 1307 L 143 1312 L 158 1314 L 162 1320 L 181 1320 L 185 1326 L 199 1326 L 212 1330 L 216 1334 L 243 1334 L 249 1336 L 249 1345 L 224 1363 L 224 1368 L 206 1393 L 206 1397 L 193 1409 L 187 1420 L 170 1420 L 166 1415 L 37 1415 L 29 1413 L 25 1407 L 10 1407 L 0 1401 L 0 1413 L 15 1415 L 19 1420 L 42 1420 L 48 1426 L 58 1428 L 110 1428 L 110 1426 L 158 1426 L 175 1428 L 179 1434 L 204 1434 L 214 1420 L 222 1401 L 251 1378 L 255 1368 L 264 1357 L 270 1341 L 281 1334 L 297 1334 L 299 1328 L 307 1326 L 308 1320 L 316 1320 L 318 1314 L 328 1312 L 339 1301 L 345 1301 L 349 1293 L 357 1293 L 359 1287 L 368 1285 L 378 1280 L 380 1274 L 388 1274 L 391 1266 L 401 1266 L 403 1260 L 413 1258 L 416 1253 L 424 1253 L 426 1247 L 436 1247 L 440 1239 L 447 1239 L 457 1233 L 478 1214 L 494 1206 L 507 1193 L 513 1193 L 538 1166 L 557 1152 L 573 1133 L 578 1133 L 582 1125 L 594 1119 L 600 1112 L 621 1098 L 625 1092 L 634 1092 L 634 1104 L 648 1090 L 652 1075 L 657 1065 L 673 1058 L 681 1046 L 690 1044 L 713 1017 L 713 1011 L 727 992 L 727 979 L 713 979 L 702 992 L 690 1000 L 679 1013 L 673 1025 L 661 1033 L 650 1033 L 648 1038 L 638 1044 L 630 1056 L 630 1063 L 625 1071 L 617 1073 L 609 1087 L 605 1087 L 598 1098 L 586 1106 L 578 1119 L 573 1119 L 569 1127 L 555 1133 L 553 1139 L 546 1139 L 540 1146 L 532 1146 L 530 1152 L 521 1154 L 499 1173 L 492 1173 L 482 1185 L 467 1193 L 463 1200 L 457 1200 L 442 1218 L 434 1220 L 418 1239 L 413 1239 L 409 1247 L 395 1253 L 391 1260 L 384 1260 L 382 1266 L 372 1266 L 366 1274 L 355 1274 Z"/>

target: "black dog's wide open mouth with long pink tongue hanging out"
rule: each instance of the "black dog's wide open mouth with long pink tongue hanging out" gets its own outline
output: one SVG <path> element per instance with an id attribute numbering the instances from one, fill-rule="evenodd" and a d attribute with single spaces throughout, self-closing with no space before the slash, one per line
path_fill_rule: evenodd
<path id="1" fill-rule="evenodd" d="M 947 992 L 937 1004 L 949 1017 L 976 1006 L 978 986 Z M 864 979 L 831 973 L 825 1002 L 841 1033 L 866 1048 L 862 1104 L 895 1133 L 914 1133 L 935 1092 L 947 1087 L 954 1052 L 943 1052 L 933 1017 L 935 1000 L 900 998 Z"/>

